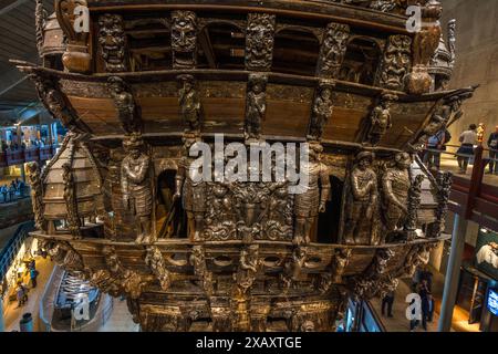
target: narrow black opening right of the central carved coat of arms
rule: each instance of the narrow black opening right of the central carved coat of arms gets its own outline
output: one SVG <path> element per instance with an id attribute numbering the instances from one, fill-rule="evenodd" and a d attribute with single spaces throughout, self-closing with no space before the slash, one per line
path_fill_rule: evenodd
<path id="1" fill-rule="evenodd" d="M 331 191 L 326 201 L 326 210 L 318 218 L 317 241 L 319 243 L 336 243 L 341 220 L 342 191 L 344 183 L 335 176 L 330 177 Z"/>

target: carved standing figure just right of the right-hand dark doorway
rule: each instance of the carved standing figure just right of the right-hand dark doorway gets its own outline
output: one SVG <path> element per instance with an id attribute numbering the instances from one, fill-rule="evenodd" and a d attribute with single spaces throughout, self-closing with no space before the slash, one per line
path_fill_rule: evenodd
<path id="1" fill-rule="evenodd" d="M 345 205 L 344 240 L 350 244 L 370 244 L 371 231 L 377 204 L 377 176 L 371 168 L 374 155 L 362 152 L 349 178 L 349 198 Z"/>

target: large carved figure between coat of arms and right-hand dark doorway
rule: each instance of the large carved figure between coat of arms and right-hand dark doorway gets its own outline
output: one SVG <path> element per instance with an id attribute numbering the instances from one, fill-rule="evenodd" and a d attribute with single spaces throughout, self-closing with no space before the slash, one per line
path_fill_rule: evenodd
<path id="1" fill-rule="evenodd" d="M 325 204 L 330 196 L 329 170 L 321 162 L 323 146 L 319 143 L 309 145 L 309 162 L 301 169 L 308 175 L 308 186 L 294 196 L 294 242 L 308 244 L 310 231 L 320 212 L 325 212 Z"/>

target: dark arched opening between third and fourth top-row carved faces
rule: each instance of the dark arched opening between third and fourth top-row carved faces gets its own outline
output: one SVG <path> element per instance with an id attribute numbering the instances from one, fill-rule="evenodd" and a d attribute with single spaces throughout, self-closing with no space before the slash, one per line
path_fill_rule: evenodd
<path id="1" fill-rule="evenodd" d="M 320 54 L 318 38 L 302 29 L 276 33 L 272 70 L 286 74 L 313 76 Z"/>

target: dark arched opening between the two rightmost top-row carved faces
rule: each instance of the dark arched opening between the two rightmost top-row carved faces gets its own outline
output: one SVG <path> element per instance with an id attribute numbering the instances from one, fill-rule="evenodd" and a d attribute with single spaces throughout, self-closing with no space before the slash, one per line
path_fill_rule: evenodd
<path id="1" fill-rule="evenodd" d="M 355 38 L 347 44 L 339 79 L 364 85 L 373 85 L 381 62 L 378 44 L 366 38 Z"/>

